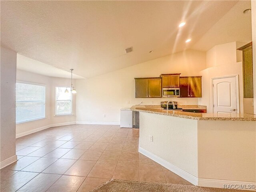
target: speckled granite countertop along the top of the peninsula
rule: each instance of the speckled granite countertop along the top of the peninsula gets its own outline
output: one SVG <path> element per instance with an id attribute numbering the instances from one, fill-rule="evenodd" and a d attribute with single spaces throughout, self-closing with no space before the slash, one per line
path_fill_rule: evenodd
<path id="1" fill-rule="evenodd" d="M 177 111 L 177 110 L 167 111 L 161 108 L 159 105 L 135 105 L 135 106 L 132 106 L 131 109 L 133 111 L 138 111 L 138 112 L 147 112 L 147 113 L 194 119 L 194 120 L 256 121 L 256 115 L 254 114 L 236 114 L 236 113 L 214 114 L 214 113 L 192 113 L 192 112 L 183 112 L 183 111 Z"/>

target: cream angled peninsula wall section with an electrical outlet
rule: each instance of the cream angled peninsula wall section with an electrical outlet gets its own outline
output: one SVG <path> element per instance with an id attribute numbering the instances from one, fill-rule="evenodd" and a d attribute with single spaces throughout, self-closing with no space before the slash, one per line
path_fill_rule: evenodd
<path id="1" fill-rule="evenodd" d="M 139 139 L 140 148 L 198 177 L 197 120 L 140 112 Z"/>

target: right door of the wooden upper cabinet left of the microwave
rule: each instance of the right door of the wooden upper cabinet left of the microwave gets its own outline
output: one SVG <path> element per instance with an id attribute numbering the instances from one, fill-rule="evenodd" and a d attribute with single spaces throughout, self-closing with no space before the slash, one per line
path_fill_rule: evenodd
<path id="1" fill-rule="evenodd" d="M 162 97 L 162 79 L 149 79 L 148 80 L 148 97 L 156 98 Z"/>

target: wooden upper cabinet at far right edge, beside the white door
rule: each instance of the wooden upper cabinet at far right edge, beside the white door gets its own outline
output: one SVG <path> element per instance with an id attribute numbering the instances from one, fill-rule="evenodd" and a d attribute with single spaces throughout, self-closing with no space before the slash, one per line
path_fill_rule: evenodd
<path id="1" fill-rule="evenodd" d="M 238 48 L 243 55 L 244 98 L 253 98 L 252 42 Z"/>

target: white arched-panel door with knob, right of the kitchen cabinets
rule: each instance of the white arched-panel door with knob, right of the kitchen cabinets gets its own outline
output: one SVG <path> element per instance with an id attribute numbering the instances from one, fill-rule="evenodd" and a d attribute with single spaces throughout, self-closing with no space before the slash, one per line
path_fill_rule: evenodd
<path id="1" fill-rule="evenodd" d="M 237 113 L 236 77 L 213 79 L 214 113 Z"/>

